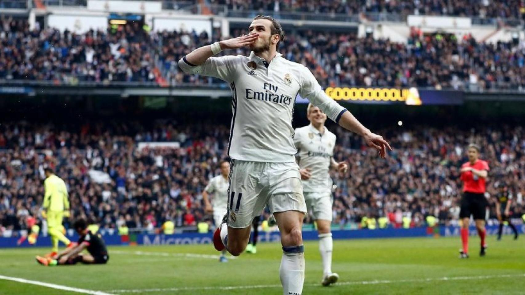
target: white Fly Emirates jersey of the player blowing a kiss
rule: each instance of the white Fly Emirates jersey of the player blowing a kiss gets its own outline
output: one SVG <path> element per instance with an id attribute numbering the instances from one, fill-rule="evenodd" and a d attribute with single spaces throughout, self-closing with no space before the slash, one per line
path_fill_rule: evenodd
<path id="1" fill-rule="evenodd" d="M 266 65 L 265 65 L 266 63 Z M 335 122 L 346 109 L 333 101 L 304 65 L 277 53 L 269 63 L 251 52 L 246 56 L 208 58 L 192 65 L 178 62 L 185 72 L 216 77 L 230 83 L 233 92 L 228 155 L 259 162 L 292 162 L 292 116 L 297 94 L 308 99 Z"/>

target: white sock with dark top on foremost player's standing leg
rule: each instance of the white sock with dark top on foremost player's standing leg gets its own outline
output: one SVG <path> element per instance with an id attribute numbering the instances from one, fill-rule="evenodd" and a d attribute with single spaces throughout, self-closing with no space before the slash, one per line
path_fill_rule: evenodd
<path id="1" fill-rule="evenodd" d="M 304 246 L 282 247 L 281 278 L 284 295 L 301 295 L 304 284 Z"/>

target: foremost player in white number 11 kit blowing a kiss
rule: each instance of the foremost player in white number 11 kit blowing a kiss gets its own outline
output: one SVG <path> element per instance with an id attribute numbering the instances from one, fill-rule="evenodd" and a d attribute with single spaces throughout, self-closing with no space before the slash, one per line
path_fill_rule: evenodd
<path id="1" fill-rule="evenodd" d="M 256 16 L 248 31 L 246 36 L 197 48 L 178 65 L 186 73 L 230 83 L 233 93 L 229 202 L 225 223 L 214 234 L 215 248 L 226 247 L 234 256 L 243 253 L 251 221 L 268 205 L 281 234 L 283 294 L 300 295 L 304 283 L 301 228 L 306 203 L 291 125 L 297 94 L 345 129 L 362 135 L 381 157 L 386 156 L 390 146 L 326 95 L 308 68 L 286 60 L 276 51 L 284 34 L 274 18 Z M 251 49 L 249 57 L 213 57 L 222 50 L 245 46 Z"/>

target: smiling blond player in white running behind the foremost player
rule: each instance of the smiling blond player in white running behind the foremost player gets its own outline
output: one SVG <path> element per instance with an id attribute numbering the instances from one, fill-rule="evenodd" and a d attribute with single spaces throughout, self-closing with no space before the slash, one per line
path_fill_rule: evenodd
<path id="1" fill-rule="evenodd" d="M 308 213 L 317 222 L 319 233 L 319 252 L 323 263 L 323 278 L 321 284 L 329 286 L 339 279 L 332 272 L 332 179 L 330 168 L 346 172 L 346 162 L 336 162 L 333 159 L 335 134 L 331 133 L 324 122 L 327 116 L 317 106 L 308 105 L 307 117 L 310 124 L 295 130 L 293 142 L 299 150 L 299 167 L 301 170 L 302 191 L 308 208 Z"/>

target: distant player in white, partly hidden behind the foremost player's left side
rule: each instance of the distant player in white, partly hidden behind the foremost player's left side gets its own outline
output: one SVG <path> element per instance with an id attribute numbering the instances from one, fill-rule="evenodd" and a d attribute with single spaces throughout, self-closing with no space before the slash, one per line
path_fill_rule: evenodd
<path id="1" fill-rule="evenodd" d="M 213 220 L 215 226 L 220 227 L 224 215 L 226 215 L 226 207 L 228 206 L 228 187 L 229 187 L 229 162 L 220 162 L 220 175 L 209 180 L 208 185 L 202 193 L 204 200 L 204 210 L 207 213 L 213 213 Z M 209 194 L 213 195 L 212 201 L 209 201 Z M 219 258 L 220 262 L 227 262 L 226 249 L 223 249 L 222 255 Z"/>

